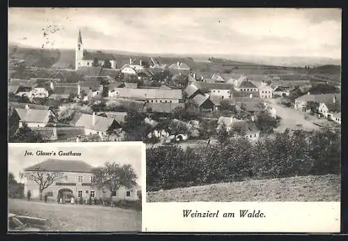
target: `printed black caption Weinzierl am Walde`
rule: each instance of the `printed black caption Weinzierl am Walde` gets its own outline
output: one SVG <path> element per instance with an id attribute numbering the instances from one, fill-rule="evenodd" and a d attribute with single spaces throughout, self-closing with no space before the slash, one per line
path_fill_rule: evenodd
<path id="1" fill-rule="evenodd" d="M 192 210 L 183 210 L 184 217 L 236 217 L 235 212 L 221 212 L 217 210 L 216 212 L 196 212 Z M 239 210 L 239 217 L 266 217 L 261 210 Z"/>

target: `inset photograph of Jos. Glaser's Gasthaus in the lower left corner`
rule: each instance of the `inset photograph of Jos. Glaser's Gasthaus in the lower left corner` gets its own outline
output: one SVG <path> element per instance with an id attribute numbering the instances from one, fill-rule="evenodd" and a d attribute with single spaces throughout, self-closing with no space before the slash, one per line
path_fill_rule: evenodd
<path id="1" fill-rule="evenodd" d="M 10 143 L 8 231 L 140 232 L 140 142 Z"/>

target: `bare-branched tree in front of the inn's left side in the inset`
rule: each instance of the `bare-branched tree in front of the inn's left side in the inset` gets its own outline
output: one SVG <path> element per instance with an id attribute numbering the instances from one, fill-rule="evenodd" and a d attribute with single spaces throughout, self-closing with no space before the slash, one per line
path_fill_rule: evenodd
<path id="1" fill-rule="evenodd" d="M 40 201 L 42 200 L 42 192 L 47 187 L 52 185 L 56 180 L 60 180 L 63 177 L 63 173 L 60 171 L 46 171 L 45 169 L 36 168 L 33 171 L 26 171 L 24 177 L 29 180 L 33 180 L 39 185 Z"/>

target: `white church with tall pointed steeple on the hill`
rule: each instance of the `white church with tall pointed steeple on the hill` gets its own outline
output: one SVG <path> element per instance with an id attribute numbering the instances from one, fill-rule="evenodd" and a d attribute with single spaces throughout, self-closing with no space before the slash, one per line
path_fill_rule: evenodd
<path id="1" fill-rule="evenodd" d="M 116 59 L 112 54 L 105 54 L 100 51 L 87 52 L 84 51 L 84 45 L 82 43 L 81 30 L 79 30 L 79 38 L 77 40 L 77 46 L 75 49 L 75 70 L 79 67 L 88 66 L 92 67 L 94 60 L 97 59 L 100 66 L 104 65 L 104 61 L 109 60 L 111 68 L 116 69 Z"/>

